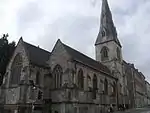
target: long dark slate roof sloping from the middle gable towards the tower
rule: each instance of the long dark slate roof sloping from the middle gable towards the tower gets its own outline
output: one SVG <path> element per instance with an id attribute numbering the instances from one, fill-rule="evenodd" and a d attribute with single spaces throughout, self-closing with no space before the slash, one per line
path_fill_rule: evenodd
<path id="1" fill-rule="evenodd" d="M 99 71 L 102 71 L 104 73 L 107 73 L 107 74 L 110 74 L 110 70 L 104 66 L 103 64 L 101 64 L 100 62 L 98 61 L 95 61 L 94 59 L 80 53 L 79 51 L 63 44 L 66 51 L 69 53 L 69 55 L 71 55 L 71 57 L 74 59 L 74 60 L 77 60 L 77 61 L 80 61 L 82 62 L 83 64 L 86 64 L 96 70 L 99 70 Z"/>

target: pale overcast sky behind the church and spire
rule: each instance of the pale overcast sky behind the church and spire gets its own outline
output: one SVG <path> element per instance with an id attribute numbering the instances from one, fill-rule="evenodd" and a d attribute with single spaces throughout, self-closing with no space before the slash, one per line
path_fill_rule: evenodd
<path id="1" fill-rule="evenodd" d="M 123 57 L 150 81 L 150 0 L 108 0 Z M 51 51 L 58 38 L 95 58 L 101 0 L 0 0 L 0 34 Z"/>

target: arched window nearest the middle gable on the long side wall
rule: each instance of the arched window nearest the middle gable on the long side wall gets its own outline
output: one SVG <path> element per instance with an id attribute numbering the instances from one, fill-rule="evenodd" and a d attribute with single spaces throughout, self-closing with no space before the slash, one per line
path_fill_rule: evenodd
<path id="1" fill-rule="evenodd" d="M 78 86 L 80 89 L 84 89 L 84 76 L 82 69 L 78 71 Z"/>

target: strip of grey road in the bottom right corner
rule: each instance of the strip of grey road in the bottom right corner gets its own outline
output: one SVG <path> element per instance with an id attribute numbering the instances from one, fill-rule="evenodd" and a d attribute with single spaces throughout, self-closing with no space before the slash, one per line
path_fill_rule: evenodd
<path id="1" fill-rule="evenodd" d="M 115 113 L 150 113 L 150 108 L 137 108 L 125 112 L 115 112 Z"/>

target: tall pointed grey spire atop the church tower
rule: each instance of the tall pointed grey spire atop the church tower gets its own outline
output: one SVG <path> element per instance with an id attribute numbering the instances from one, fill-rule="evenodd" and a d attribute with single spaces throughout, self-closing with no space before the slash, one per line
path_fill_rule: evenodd
<path id="1" fill-rule="evenodd" d="M 108 41 L 115 41 L 121 47 L 107 0 L 102 0 L 101 10 L 100 31 L 95 45 Z"/>

